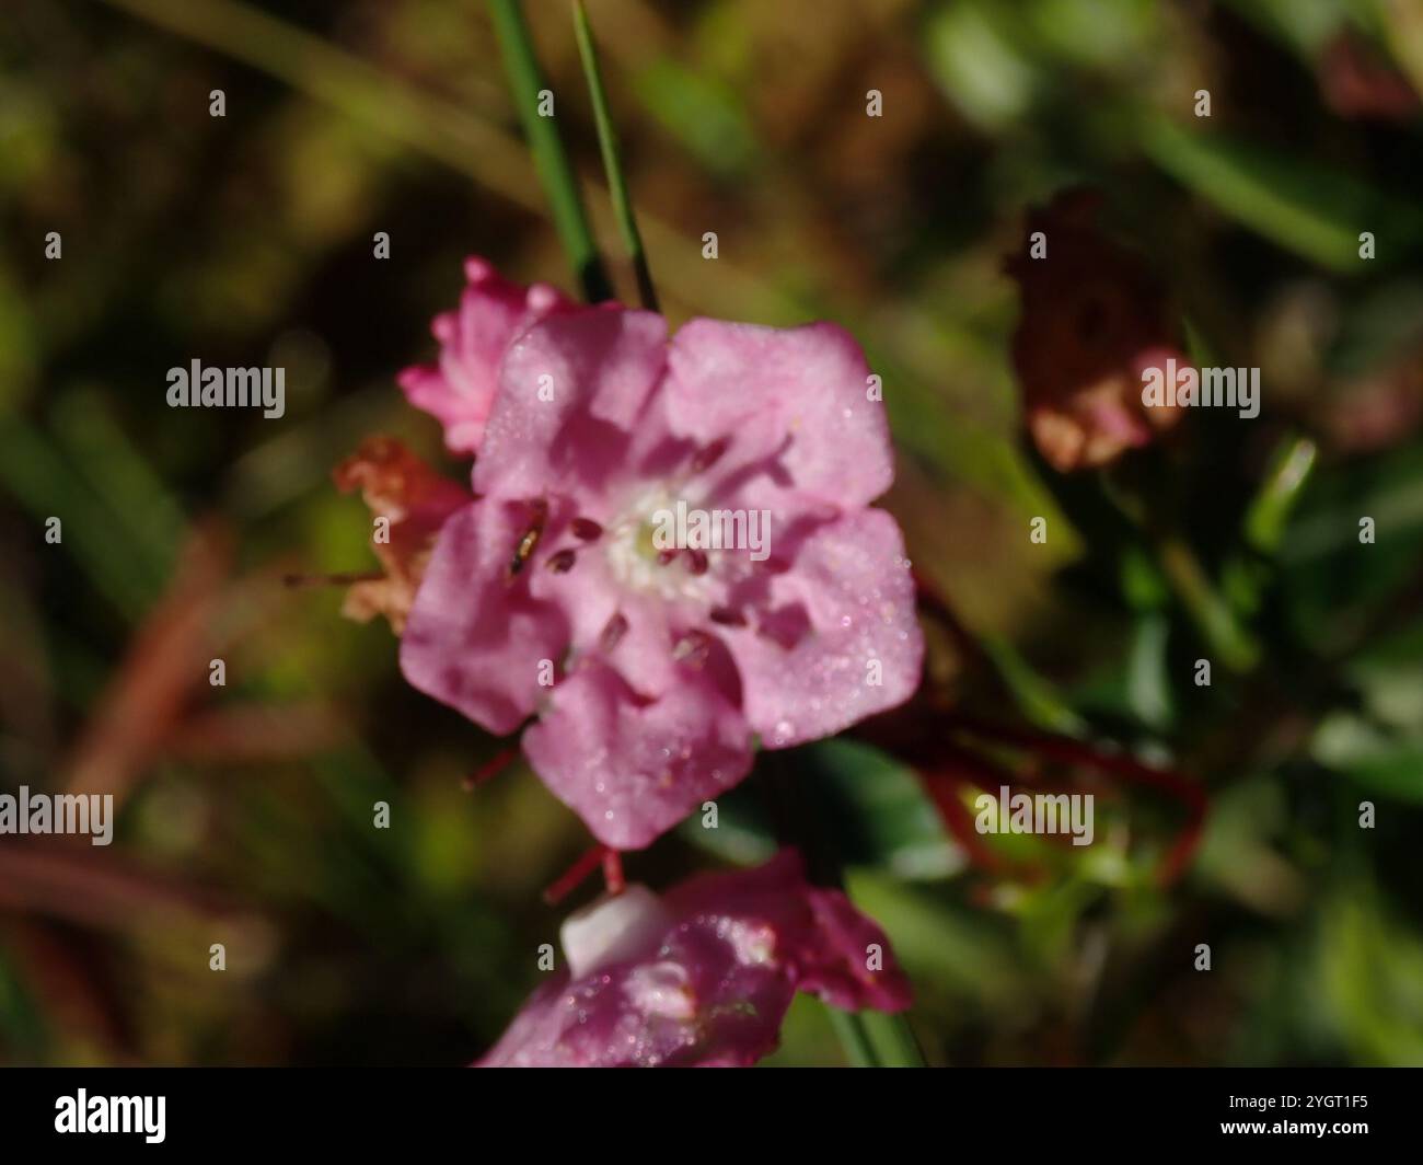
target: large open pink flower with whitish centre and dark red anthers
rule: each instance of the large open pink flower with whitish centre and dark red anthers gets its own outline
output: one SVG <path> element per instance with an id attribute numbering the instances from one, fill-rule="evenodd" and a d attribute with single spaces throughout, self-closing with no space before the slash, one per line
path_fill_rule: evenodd
<path id="1" fill-rule="evenodd" d="M 477 501 L 444 526 L 406 678 L 636 849 L 788 748 L 904 702 L 924 642 L 892 453 L 840 328 L 562 309 L 498 366 Z M 724 537 L 675 517 L 730 516 Z M 740 523 L 740 524 L 737 524 Z M 665 537 L 666 536 L 666 537 Z M 672 538 L 672 541 L 669 541 Z"/>

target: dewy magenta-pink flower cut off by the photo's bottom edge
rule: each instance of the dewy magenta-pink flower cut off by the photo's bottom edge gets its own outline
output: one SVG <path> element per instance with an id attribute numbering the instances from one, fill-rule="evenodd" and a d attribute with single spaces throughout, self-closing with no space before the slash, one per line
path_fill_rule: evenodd
<path id="1" fill-rule="evenodd" d="M 629 886 L 562 937 L 568 966 L 477 1067 L 747 1067 L 776 1048 L 797 990 L 844 1010 L 909 1005 L 884 933 L 808 884 L 794 850 L 662 899 Z"/>

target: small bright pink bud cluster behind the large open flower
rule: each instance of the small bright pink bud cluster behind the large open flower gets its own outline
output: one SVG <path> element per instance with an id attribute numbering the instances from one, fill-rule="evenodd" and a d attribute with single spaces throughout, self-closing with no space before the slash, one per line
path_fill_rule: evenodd
<path id="1" fill-rule="evenodd" d="M 407 367 L 398 376 L 406 399 L 440 420 L 451 453 L 474 453 L 494 406 L 499 360 L 509 342 L 534 320 L 562 310 L 568 301 L 546 283 L 521 288 L 501 279 L 484 259 L 465 259 L 468 286 L 460 310 L 435 316 L 435 365 Z"/>

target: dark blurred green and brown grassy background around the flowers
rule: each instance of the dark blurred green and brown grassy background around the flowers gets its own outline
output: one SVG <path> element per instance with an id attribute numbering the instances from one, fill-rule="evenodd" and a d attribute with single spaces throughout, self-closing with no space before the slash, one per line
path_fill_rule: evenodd
<path id="1" fill-rule="evenodd" d="M 985 864 L 902 761 L 821 751 L 929 1060 L 1423 1064 L 1423 6 L 589 7 L 673 323 L 835 319 L 884 376 L 887 504 L 965 628 L 931 628 L 936 699 L 1205 790 L 1163 884 L 1188 826 L 1160 793 L 1094 776 L 1096 845 L 1000 839 Z M 527 11 L 630 299 L 568 9 Z M 1192 355 L 1262 369 L 1258 419 L 1133 454 L 1205 598 L 1023 437 L 1003 261 L 1073 185 Z M 484 6 L 9 0 L 0 222 L 0 790 L 120 805 L 107 849 L 0 837 L 0 1061 L 472 1060 L 586 833 L 521 763 L 471 792 L 501 745 L 401 681 L 383 622 L 282 575 L 374 565 L 330 480 L 363 436 L 464 471 L 394 375 L 433 357 L 465 255 L 572 289 Z M 285 366 L 286 416 L 168 409 L 194 357 Z M 1312 471 L 1272 477 L 1292 450 Z M 1248 648 L 1202 689 L 1211 602 Z M 629 876 L 770 846 L 753 813 L 709 837 Z M 841 1055 L 800 1000 L 774 1062 Z"/>

